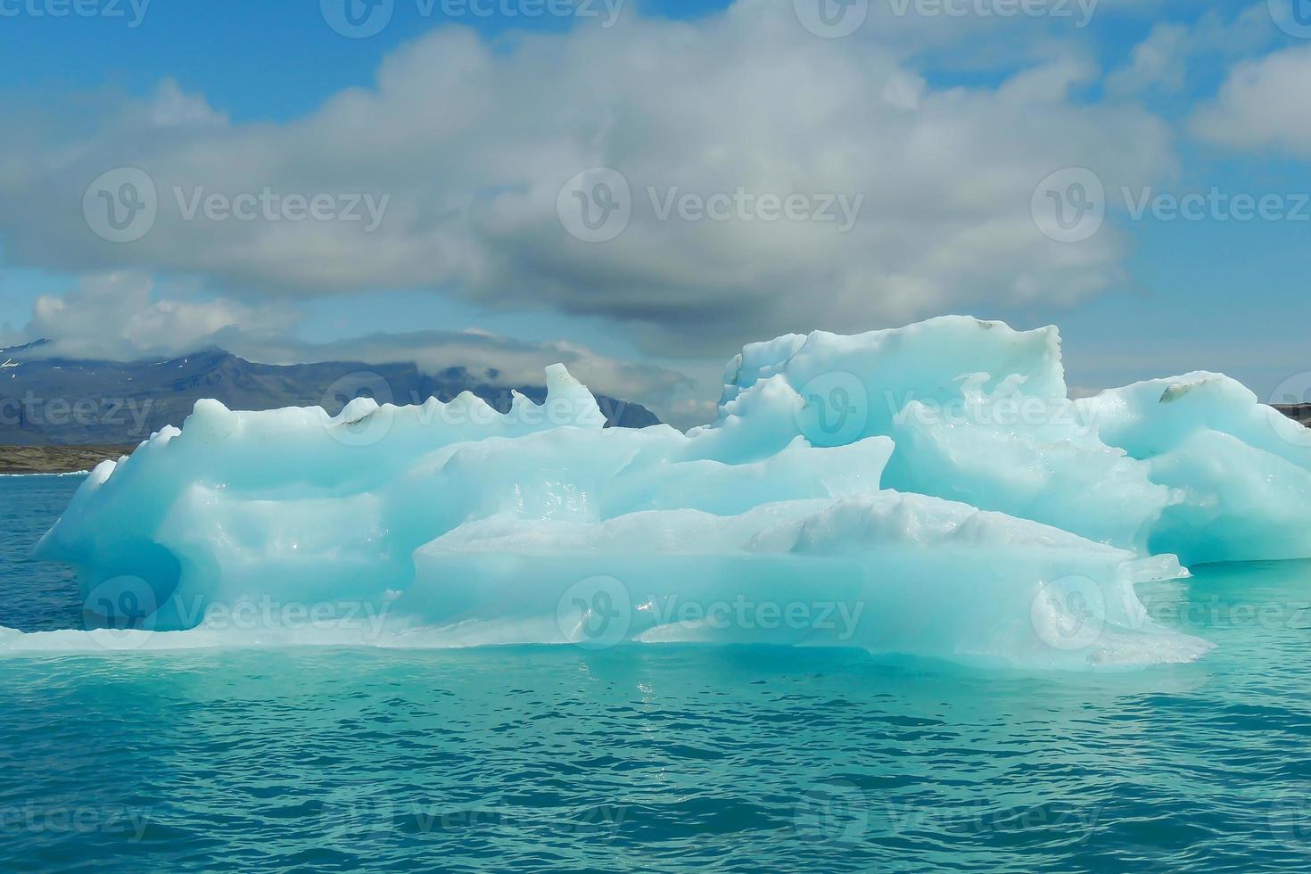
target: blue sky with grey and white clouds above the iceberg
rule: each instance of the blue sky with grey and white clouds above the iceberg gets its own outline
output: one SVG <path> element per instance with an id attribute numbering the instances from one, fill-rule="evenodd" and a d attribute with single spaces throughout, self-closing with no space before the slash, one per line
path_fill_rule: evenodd
<path id="1" fill-rule="evenodd" d="M 564 360 L 1061 326 L 1311 385 L 1311 0 L 0 0 L 0 346 Z"/>

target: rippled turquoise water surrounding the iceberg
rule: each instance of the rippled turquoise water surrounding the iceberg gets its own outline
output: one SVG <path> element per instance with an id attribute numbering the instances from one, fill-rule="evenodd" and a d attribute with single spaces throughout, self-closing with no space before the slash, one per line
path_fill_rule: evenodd
<path id="1" fill-rule="evenodd" d="M 0 625 L 76 477 L 0 478 Z M 773 649 L 0 656 L 4 870 L 1311 867 L 1311 563 L 1143 592 L 1124 674 Z"/>

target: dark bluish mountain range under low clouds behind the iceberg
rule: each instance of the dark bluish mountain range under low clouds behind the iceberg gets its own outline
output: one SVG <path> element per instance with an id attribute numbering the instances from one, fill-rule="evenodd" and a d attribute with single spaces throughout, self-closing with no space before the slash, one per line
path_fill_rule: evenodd
<path id="1" fill-rule="evenodd" d="M 414 364 L 316 362 L 257 364 L 212 349 L 168 360 L 75 360 L 49 355 L 49 341 L 0 349 L 0 444 L 127 444 L 165 425 L 182 425 L 195 402 L 216 398 L 235 410 L 323 406 L 336 415 L 346 402 L 450 401 L 477 394 L 510 409 L 511 389 L 497 373 L 463 367 L 423 373 Z M 540 404 L 543 385 L 514 387 Z M 597 396 L 607 427 L 646 427 L 659 419 L 641 404 Z"/>

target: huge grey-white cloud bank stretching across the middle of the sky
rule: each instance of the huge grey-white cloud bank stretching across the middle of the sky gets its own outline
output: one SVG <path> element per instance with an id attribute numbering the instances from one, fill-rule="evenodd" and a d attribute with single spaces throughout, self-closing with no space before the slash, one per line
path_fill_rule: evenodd
<path id="1" fill-rule="evenodd" d="M 935 86 L 878 28 L 822 39 L 792 5 L 738 3 L 695 22 L 625 10 L 611 29 L 509 42 L 443 28 L 387 56 L 371 86 L 286 123 L 233 123 L 166 83 L 90 132 L 25 135 L 0 159 L 7 256 L 195 276 L 253 307 L 431 288 L 599 316 L 649 352 L 716 358 L 788 330 L 1071 301 L 1118 282 L 1126 245 L 1113 227 L 1047 240 L 1030 197 L 1067 166 L 1108 187 L 1150 182 L 1172 162 L 1160 119 L 1089 101 L 1100 72 L 1078 52 L 995 86 Z M 148 176 L 157 214 L 144 236 L 114 242 L 83 207 L 119 166 Z M 585 242 L 560 219 L 561 190 L 595 166 L 621 174 L 631 218 Z M 90 207 L 100 194 L 136 203 L 121 182 Z M 724 220 L 666 206 L 739 191 L 754 206 Z M 208 212 L 210 195 L 227 210 Z M 248 218 L 232 218 L 240 195 Z M 330 203 L 305 218 L 315 195 Z M 800 195 L 806 218 L 770 219 L 762 195 Z M 838 198 L 859 198 L 846 232 L 815 220 Z M 342 215 L 351 199 L 358 220 Z"/>

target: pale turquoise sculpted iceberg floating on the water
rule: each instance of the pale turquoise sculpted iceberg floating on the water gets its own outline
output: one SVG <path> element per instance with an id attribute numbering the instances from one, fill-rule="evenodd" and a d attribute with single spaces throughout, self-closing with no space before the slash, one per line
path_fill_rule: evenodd
<path id="1" fill-rule="evenodd" d="M 851 646 L 1083 670 L 1210 645 L 1135 591 L 1311 557 L 1311 440 L 1227 377 L 1070 400 L 1055 328 L 787 335 L 713 423 L 472 394 L 235 411 L 101 464 L 37 545 L 89 630 L 0 651 L 351 643 Z"/>

